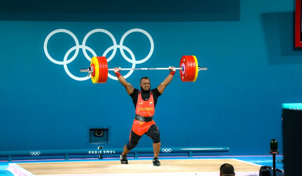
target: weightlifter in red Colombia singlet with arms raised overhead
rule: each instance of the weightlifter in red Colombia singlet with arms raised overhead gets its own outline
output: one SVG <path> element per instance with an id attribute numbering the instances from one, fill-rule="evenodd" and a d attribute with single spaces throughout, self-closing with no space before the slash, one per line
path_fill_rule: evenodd
<path id="1" fill-rule="evenodd" d="M 150 79 L 143 77 L 140 79 L 140 89 L 135 89 L 128 83 L 122 75 L 120 75 L 120 68 L 115 67 L 114 73 L 117 75 L 117 79 L 126 88 L 127 93 L 132 97 L 133 105 L 135 108 L 135 118 L 132 124 L 130 137 L 128 143 L 124 146 L 123 152 L 120 154 L 120 163 L 128 164 L 127 153 L 133 149 L 143 134 L 153 140 L 154 159 L 152 160 L 153 166 L 160 166 L 158 160 L 160 150 L 159 130 L 156 126 L 153 115 L 155 112 L 155 105 L 157 98 L 163 93 L 166 86 L 172 81 L 175 67 L 171 67 L 170 74 L 166 79 L 157 86 L 155 89 L 151 89 Z"/>

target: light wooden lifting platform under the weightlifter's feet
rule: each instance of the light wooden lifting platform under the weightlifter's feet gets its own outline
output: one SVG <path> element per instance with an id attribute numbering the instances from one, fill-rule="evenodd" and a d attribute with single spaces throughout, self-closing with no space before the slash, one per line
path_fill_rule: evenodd
<path id="1" fill-rule="evenodd" d="M 219 173 L 219 168 L 224 163 L 234 166 L 235 172 L 259 173 L 260 166 L 235 159 L 185 159 L 185 160 L 160 160 L 161 166 L 152 165 L 152 159 L 129 160 L 129 164 L 120 164 L 116 161 L 81 161 L 81 162 L 50 162 L 50 163 L 17 163 L 16 165 L 29 174 L 25 175 L 132 175 L 145 173 L 190 173 L 200 175 L 201 172 Z M 174 173 L 174 174 L 173 174 Z M 17 174 L 16 174 L 17 175 Z M 219 175 L 219 174 L 218 174 Z M 237 174 L 236 174 L 237 175 Z M 239 174 L 238 174 L 239 175 Z"/>

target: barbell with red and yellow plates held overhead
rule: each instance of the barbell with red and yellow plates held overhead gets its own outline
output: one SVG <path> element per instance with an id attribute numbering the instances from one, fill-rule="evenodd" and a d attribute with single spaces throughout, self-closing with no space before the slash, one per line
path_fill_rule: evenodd
<path id="1" fill-rule="evenodd" d="M 121 68 L 121 70 L 169 70 L 169 68 Z M 197 79 L 198 71 L 208 70 L 207 67 L 199 67 L 197 58 L 195 56 L 182 56 L 179 68 L 180 78 L 183 82 L 195 82 Z M 113 71 L 113 68 L 108 69 L 106 57 L 92 57 L 90 67 L 80 69 L 80 72 L 88 72 L 91 75 L 93 83 L 105 83 L 108 78 L 108 71 Z"/>

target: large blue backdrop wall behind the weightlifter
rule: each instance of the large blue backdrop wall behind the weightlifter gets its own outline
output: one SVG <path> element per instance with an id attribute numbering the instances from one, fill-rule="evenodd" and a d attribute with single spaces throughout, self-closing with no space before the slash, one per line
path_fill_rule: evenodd
<path id="1" fill-rule="evenodd" d="M 19 13 L 3 8 L 0 151 L 96 148 L 87 142 L 90 127 L 109 127 L 110 143 L 101 145 L 122 148 L 134 117 L 124 87 L 110 78 L 106 84 L 72 79 L 63 65 L 46 57 L 44 41 L 52 31 L 66 29 L 81 45 L 89 31 L 101 28 L 119 44 L 126 31 L 140 28 L 151 35 L 154 51 L 136 68 L 178 66 L 182 55 L 195 55 L 200 66 L 208 67 L 199 72 L 196 82 L 182 82 L 176 74 L 159 97 L 155 122 L 163 147 L 229 146 L 230 155 L 267 155 L 269 141 L 275 138 L 282 153 L 282 103 L 302 100 L 302 51 L 293 48 L 294 1 L 219 2 L 216 7 L 220 10 L 211 2 L 194 1 L 189 4 L 193 13 L 181 13 L 181 4 L 174 7 L 167 1 L 165 5 L 173 9 L 167 13 L 164 9 L 152 12 L 151 6 L 147 13 L 121 15 L 114 11 L 112 16 L 108 9 L 104 14 L 62 15 L 60 9 Z M 76 20 L 80 16 L 86 20 Z M 98 56 L 112 45 L 109 36 L 100 32 L 86 42 Z M 123 45 L 136 60 L 146 57 L 151 47 L 140 32 L 129 34 Z M 70 35 L 57 33 L 49 39 L 47 49 L 52 58 L 63 61 L 73 46 Z M 73 75 L 84 77 L 78 70 L 89 65 L 79 50 L 67 67 Z M 130 68 L 132 64 L 117 50 L 108 66 Z M 134 71 L 126 80 L 139 88 L 139 79 L 148 76 L 155 88 L 167 75 L 168 71 Z M 145 136 L 138 147 L 151 147 L 151 143 Z"/>

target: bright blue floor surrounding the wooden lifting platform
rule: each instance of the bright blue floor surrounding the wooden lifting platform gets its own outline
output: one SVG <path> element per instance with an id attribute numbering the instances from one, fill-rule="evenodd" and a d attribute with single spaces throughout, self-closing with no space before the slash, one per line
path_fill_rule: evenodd
<path id="1" fill-rule="evenodd" d="M 175 160 L 179 160 L 179 159 L 228 159 L 228 158 L 234 158 L 234 159 L 238 159 L 238 160 L 243 160 L 243 161 L 247 161 L 250 163 L 255 163 L 258 165 L 262 165 L 262 166 L 273 166 L 273 157 L 272 156 L 194 156 L 193 158 L 184 158 L 184 157 L 180 157 L 180 158 L 161 158 L 159 157 L 159 160 L 166 160 L 166 159 L 175 159 Z M 151 159 L 151 158 L 150 158 Z M 283 159 L 283 156 L 276 156 L 276 160 L 277 159 Z M 69 161 L 97 161 L 98 159 L 91 159 L 91 160 L 69 160 Z M 104 160 L 116 160 L 117 162 L 119 162 L 119 158 L 116 159 L 104 159 Z M 131 160 L 146 160 L 146 158 L 143 159 L 129 159 L 129 161 Z M 30 163 L 30 162 L 64 162 L 65 160 L 39 160 L 39 161 L 15 161 L 15 162 L 0 162 L 0 176 L 13 176 L 13 174 L 10 171 L 7 171 L 6 169 L 8 168 L 8 164 L 9 163 Z M 223 164 L 223 163 L 222 163 Z M 278 163 L 276 162 L 276 168 L 284 170 L 283 167 L 283 163 Z M 259 167 L 260 169 L 260 167 Z M 236 172 L 236 168 L 235 168 L 235 172 Z"/>

